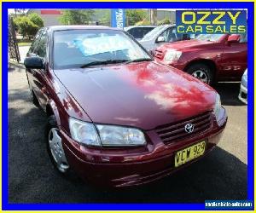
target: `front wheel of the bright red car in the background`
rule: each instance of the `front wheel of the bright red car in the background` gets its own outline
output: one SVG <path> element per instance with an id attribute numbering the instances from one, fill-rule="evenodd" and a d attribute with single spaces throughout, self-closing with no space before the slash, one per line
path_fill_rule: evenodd
<path id="1" fill-rule="evenodd" d="M 209 85 L 212 85 L 214 83 L 213 72 L 210 66 L 207 66 L 205 64 L 198 63 L 191 65 L 186 72 L 188 72 L 193 77 L 200 79 L 203 83 L 207 83 Z"/>

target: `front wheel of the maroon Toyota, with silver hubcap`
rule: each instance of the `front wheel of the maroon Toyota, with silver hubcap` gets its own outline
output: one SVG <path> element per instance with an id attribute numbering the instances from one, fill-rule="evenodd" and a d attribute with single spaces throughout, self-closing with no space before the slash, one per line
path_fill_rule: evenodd
<path id="1" fill-rule="evenodd" d="M 60 130 L 54 115 L 50 115 L 47 119 L 45 141 L 49 158 L 55 169 L 62 175 L 68 176 L 70 168 L 67 164 L 67 158 L 62 147 Z"/>

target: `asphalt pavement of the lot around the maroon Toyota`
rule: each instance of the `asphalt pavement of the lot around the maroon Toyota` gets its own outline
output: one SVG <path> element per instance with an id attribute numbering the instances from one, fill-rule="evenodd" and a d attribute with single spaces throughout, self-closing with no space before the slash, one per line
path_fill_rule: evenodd
<path id="1" fill-rule="evenodd" d="M 218 83 L 229 120 L 218 147 L 172 176 L 131 188 L 65 178 L 50 163 L 44 112 L 32 105 L 22 66 L 9 68 L 9 203 L 202 203 L 247 199 L 247 106 L 239 83 Z"/>

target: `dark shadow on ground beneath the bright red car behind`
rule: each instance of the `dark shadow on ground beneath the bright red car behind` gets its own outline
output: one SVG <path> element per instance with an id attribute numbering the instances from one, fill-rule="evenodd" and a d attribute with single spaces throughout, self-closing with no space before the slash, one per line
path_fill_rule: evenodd
<path id="1" fill-rule="evenodd" d="M 213 88 L 217 90 L 224 106 L 243 106 L 244 103 L 238 99 L 240 84 L 240 82 L 216 83 Z"/>

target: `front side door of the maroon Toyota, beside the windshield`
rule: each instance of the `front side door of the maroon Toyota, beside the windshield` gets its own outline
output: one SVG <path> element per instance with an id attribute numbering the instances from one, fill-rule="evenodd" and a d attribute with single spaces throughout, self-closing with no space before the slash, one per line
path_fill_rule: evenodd
<path id="1" fill-rule="evenodd" d="M 44 29 L 41 34 L 38 49 L 36 49 L 35 54 L 42 58 L 44 62 L 47 60 L 46 50 L 48 44 L 48 31 Z M 35 84 L 35 93 L 38 97 L 40 105 L 44 108 L 48 99 L 48 89 L 47 89 L 47 73 L 44 69 L 35 69 L 33 72 L 33 79 Z"/>

